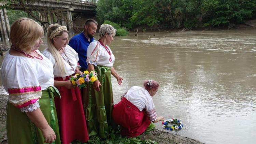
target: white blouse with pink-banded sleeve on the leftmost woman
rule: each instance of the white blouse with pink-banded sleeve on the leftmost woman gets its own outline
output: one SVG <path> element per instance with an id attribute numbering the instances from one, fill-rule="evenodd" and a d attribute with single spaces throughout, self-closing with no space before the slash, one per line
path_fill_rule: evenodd
<path id="1" fill-rule="evenodd" d="M 54 84 L 53 65 L 38 50 L 42 60 L 6 53 L 2 62 L 1 78 L 8 101 L 22 112 L 36 110 L 41 90 Z"/>

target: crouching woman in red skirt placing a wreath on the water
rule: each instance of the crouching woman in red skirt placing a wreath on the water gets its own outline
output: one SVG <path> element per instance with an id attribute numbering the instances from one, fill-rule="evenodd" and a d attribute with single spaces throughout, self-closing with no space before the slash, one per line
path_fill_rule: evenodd
<path id="1" fill-rule="evenodd" d="M 157 117 L 152 97 L 158 90 L 156 81 L 147 80 L 139 86 L 131 87 L 113 109 L 113 119 L 120 125 L 123 136 L 135 137 L 142 134 L 151 121 L 156 123 L 165 120 L 162 116 Z"/>

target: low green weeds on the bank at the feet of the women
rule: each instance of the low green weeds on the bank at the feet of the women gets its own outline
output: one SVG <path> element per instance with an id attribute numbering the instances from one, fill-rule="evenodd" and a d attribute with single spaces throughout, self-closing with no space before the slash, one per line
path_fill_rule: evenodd
<path id="1" fill-rule="evenodd" d="M 155 128 L 153 123 L 148 126 L 143 134 L 148 134 Z M 81 142 L 75 141 L 72 144 L 82 144 Z M 157 142 L 152 140 L 141 140 L 140 136 L 135 138 L 127 138 L 120 135 L 120 130 L 117 132 L 111 131 L 108 139 L 101 139 L 99 136 L 91 136 L 90 140 L 85 144 L 157 144 Z"/>

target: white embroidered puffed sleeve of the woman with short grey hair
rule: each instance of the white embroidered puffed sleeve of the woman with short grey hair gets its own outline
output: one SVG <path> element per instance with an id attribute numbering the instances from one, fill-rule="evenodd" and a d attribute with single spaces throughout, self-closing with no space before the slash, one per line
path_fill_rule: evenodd
<path id="1" fill-rule="evenodd" d="M 99 61 L 99 43 L 93 41 L 87 48 L 87 65 L 93 64 L 97 66 L 97 62 Z"/>

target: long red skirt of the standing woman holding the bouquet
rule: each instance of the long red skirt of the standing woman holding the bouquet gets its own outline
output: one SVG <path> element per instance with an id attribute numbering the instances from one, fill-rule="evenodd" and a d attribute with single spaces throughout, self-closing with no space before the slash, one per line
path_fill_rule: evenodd
<path id="1" fill-rule="evenodd" d="M 54 80 L 63 81 L 62 77 L 55 77 Z M 65 81 L 69 81 L 68 76 Z M 61 143 L 69 144 L 74 140 L 87 142 L 89 136 L 80 89 L 78 87 L 72 89 L 56 88 L 61 96 L 61 98 L 55 97 Z"/>

